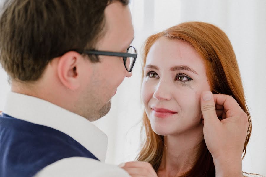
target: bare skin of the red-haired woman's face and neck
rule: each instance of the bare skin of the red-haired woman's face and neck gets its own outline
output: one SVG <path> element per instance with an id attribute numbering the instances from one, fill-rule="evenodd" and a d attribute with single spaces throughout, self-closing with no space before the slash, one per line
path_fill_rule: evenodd
<path id="1" fill-rule="evenodd" d="M 204 139 L 200 96 L 210 86 L 203 60 L 189 43 L 160 38 L 147 55 L 144 74 L 145 111 L 153 131 L 165 136 L 158 176 L 181 175 L 192 168 Z M 176 113 L 157 112 L 160 108 Z"/>

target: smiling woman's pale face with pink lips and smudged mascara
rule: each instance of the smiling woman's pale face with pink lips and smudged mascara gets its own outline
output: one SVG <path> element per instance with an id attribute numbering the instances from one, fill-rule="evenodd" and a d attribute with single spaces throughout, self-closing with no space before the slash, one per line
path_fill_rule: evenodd
<path id="1" fill-rule="evenodd" d="M 203 90 L 210 86 L 194 47 L 182 40 L 158 39 L 147 55 L 141 90 L 153 131 L 175 135 L 202 126 Z"/>

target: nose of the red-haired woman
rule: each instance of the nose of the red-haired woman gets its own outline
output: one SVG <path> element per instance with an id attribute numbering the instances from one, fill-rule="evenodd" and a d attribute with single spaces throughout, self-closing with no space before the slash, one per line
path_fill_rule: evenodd
<path id="1" fill-rule="evenodd" d="M 169 84 L 160 81 L 156 87 L 156 90 L 153 93 L 153 98 L 157 100 L 170 100 L 171 93 L 169 88 Z"/>

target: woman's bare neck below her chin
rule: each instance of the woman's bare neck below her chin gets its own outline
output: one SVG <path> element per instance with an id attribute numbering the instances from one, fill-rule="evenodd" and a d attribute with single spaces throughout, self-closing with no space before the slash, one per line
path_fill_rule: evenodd
<path id="1" fill-rule="evenodd" d="M 164 137 L 164 152 L 158 176 L 179 176 L 189 171 L 197 159 L 203 140 L 203 125 L 178 135 Z"/>

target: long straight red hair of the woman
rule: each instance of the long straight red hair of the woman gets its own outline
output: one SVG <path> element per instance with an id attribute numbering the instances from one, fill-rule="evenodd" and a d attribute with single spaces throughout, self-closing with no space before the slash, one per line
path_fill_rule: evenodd
<path id="1" fill-rule="evenodd" d="M 207 79 L 213 94 L 231 95 L 246 112 L 249 128 L 243 149 L 242 157 L 244 158 L 251 134 L 251 119 L 246 105 L 236 55 L 226 34 L 220 28 L 204 22 L 186 22 L 170 27 L 147 38 L 144 44 L 142 66 L 145 66 L 150 47 L 160 37 L 166 37 L 170 40 L 184 40 L 191 44 L 205 63 Z M 144 73 L 142 71 L 142 79 L 143 77 Z M 153 132 L 145 112 L 143 114 L 143 130 L 145 130 L 146 138 L 137 160 L 151 163 L 157 172 L 163 155 L 164 137 Z M 215 176 L 213 158 L 204 140 L 200 145 L 194 166 L 182 176 Z"/>

